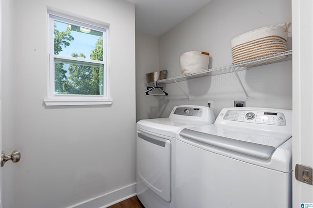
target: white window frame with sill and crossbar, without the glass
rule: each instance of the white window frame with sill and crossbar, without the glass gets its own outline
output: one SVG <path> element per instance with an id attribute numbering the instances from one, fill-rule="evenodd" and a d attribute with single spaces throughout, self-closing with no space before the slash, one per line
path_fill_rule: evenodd
<path id="1" fill-rule="evenodd" d="M 77 26 L 90 28 L 93 30 L 103 32 L 103 61 L 84 59 L 81 57 L 64 57 L 54 54 L 54 20 L 75 24 Z M 109 28 L 104 25 L 99 25 L 94 22 L 85 21 L 67 17 L 48 11 L 48 41 L 49 41 L 49 66 L 48 66 L 48 92 L 47 98 L 44 100 L 47 106 L 60 106 L 60 105 L 112 105 L 110 98 L 110 83 L 109 83 L 109 50 L 108 50 L 108 34 Z M 90 64 L 103 64 L 103 95 L 55 95 L 54 93 L 54 58 L 67 59 L 69 61 L 84 61 Z"/>

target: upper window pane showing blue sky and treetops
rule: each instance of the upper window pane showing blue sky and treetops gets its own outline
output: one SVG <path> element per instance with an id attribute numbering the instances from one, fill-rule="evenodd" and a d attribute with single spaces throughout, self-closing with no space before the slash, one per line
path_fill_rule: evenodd
<path id="1" fill-rule="evenodd" d="M 103 61 L 103 32 L 54 20 L 54 54 Z"/>

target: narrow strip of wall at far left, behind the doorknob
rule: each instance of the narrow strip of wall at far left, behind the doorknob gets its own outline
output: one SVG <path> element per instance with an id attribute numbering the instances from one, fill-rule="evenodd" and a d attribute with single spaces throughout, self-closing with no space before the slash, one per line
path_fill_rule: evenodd
<path id="1" fill-rule="evenodd" d="M 10 154 L 16 149 L 14 133 L 16 132 L 14 126 L 15 109 L 13 105 L 15 103 L 14 96 L 14 75 L 13 64 L 15 62 L 14 53 L 14 5 L 15 1 L 12 0 L 1 0 L 2 3 L 2 25 L 1 25 L 1 94 L 2 94 L 2 151 L 6 154 Z M 17 172 L 17 166 L 13 166 L 10 163 L 5 164 L 2 171 L 2 184 L 5 187 L 5 202 L 12 202 L 14 200 L 14 186 L 15 177 Z M 13 177 L 12 177 L 13 176 Z M 3 189 L 2 192 L 4 193 Z M 2 199 L 4 198 L 2 197 Z M 5 203 L 4 202 L 4 203 Z M 3 206 L 6 208 L 8 206 Z"/>

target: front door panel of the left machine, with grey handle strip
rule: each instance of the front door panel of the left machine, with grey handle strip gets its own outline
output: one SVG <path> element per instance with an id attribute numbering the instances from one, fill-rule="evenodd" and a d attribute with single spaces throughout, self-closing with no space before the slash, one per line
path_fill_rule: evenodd
<path id="1" fill-rule="evenodd" d="M 137 131 L 137 176 L 157 195 L 171 202 L 171 141 Z"/>

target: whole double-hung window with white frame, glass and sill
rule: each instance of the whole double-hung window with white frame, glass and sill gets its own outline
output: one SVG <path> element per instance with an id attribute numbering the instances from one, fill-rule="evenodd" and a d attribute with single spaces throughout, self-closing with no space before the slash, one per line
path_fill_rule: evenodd
<path id="1" fill-rule="evenodd" d="M 49 14 L 49 92 L 46 105 L 112 104 L 108 29 Z"/>

